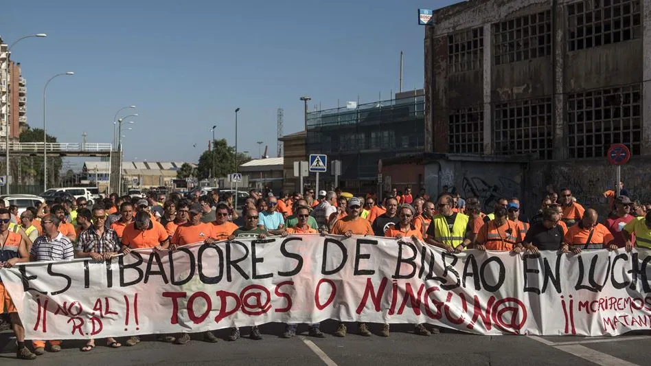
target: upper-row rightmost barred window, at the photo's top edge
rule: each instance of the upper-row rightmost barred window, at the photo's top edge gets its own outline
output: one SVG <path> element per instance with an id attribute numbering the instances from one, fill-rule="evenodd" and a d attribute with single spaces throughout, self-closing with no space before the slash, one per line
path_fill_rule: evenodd
<path id="1" fill-rule="evenodd" d="M 640 38 L 640 0 L 590 0 L 567 5 L 569 51 Z"/>

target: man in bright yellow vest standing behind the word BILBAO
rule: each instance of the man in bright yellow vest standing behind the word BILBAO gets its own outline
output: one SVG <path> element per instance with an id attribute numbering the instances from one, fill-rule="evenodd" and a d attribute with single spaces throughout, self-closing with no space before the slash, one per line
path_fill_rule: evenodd
<path id="1" fill-rule="evenodd" d="M 468 216 L 453 211 L 454 203 L 450 194 L 439 197 L 436 204 L 439 214 L 432 218 L 425 242 L 450 253 L 461 253 L 471 242 L 472 227 L 468 225 Z"/>

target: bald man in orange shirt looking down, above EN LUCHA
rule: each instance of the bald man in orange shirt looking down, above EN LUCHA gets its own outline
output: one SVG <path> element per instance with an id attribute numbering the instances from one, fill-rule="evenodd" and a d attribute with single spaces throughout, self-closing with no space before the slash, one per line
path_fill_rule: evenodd
<path id="1" fill-rule="evenodd" d="M 598 218 L 597 211 L 586 209 L 583 218 L 567 229 L 564 242 L 573 253 L 581 253 L 582 249 L 617 249 L 617 244 L 613 243 L 613 234 L 597 222 Z"/>

